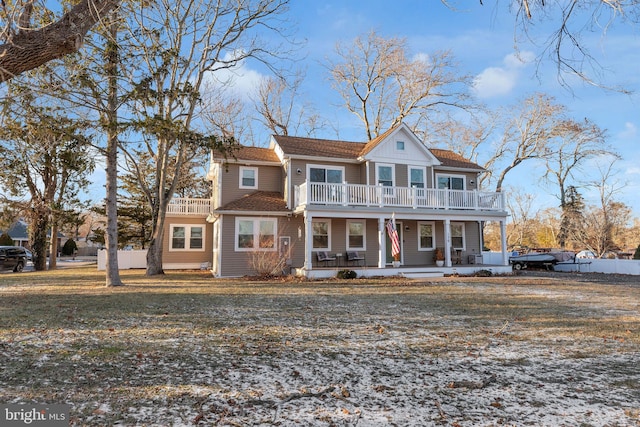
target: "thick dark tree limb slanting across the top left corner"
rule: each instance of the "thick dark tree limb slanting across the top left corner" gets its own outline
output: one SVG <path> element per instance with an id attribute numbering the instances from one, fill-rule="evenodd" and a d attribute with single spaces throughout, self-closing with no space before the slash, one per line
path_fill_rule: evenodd
<path id="1" fill-rule="evenodd" d="M 0 82 L 77 51 L 91 27 L 118 4 L 119 0 L 82 0 L 53 24 L 19 29 L 0 45 Z M 30 9 L 23 14 L 28 18 Z"/>

